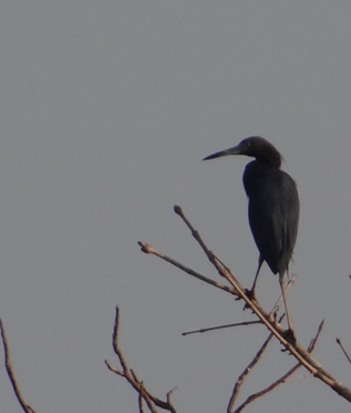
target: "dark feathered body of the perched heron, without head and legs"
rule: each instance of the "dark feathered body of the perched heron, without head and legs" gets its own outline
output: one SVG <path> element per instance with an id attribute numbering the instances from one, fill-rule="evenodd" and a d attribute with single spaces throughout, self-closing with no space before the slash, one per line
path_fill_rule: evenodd
<path id="1" fill-rule="evenodd" d="M 249 199 L 248 216 L 260 253 L 273 274 L 288 270 L 298 234 L 299 198 L 286 172 L 262 161 L 250 162 L 244 172 Z"/>

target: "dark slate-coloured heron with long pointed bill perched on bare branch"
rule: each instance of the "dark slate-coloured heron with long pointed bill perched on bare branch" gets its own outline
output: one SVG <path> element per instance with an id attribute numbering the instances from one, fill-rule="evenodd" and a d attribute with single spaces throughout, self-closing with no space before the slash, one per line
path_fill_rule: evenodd
<path id="1" fill-rule="evenodd" d="M 266 139 L 250 137 L 237 147 L 213 153 L 204 160 L 233 154 L 256 158 L 245 168 L 244 188 L 249 200 L 248 215 L 254 240 L 259 251 L 258 273 L 266 261 L 273 274 L 279 274 L 279 283 L 286 306 L 289 330 L 292 325 L 287 306 L 283 275 L 289 269 L 298 234 L 300 203 L 297 185 L 288 173 L 280 170 L 282 157 Z"/>

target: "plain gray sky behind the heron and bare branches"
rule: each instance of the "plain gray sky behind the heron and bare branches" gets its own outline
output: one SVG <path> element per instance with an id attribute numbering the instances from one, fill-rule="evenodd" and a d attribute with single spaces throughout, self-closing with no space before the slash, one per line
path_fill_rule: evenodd
<path id="1" fill-rule="evenodd" d="M 0 13 L 0 316 L 21 390 L 38 412 L 136 412 L 114 376 L 114 306 L 131 366 L 179 412 L 225 411 L 267 336 L 242 304 L 143 254 L 149 242 L 216 276 L 186 226 L 251 283 L 257 250 L 241 174 L 247 158 L 202 162 L 260 134 L 297 181 L 301 220 L 289 292 L 307 344 L 350 385 L 351 2 L 3 1 Z M 258 296 L 279 283 L 265 265 Z M 272 343 L 244 396 L 293 360 Z M 302 374 L 302 370 L 299 374 Z M 19 412 L 0 366 L 1 409 Z M 314 379 L 246 412 L 349 412 Z"/>

